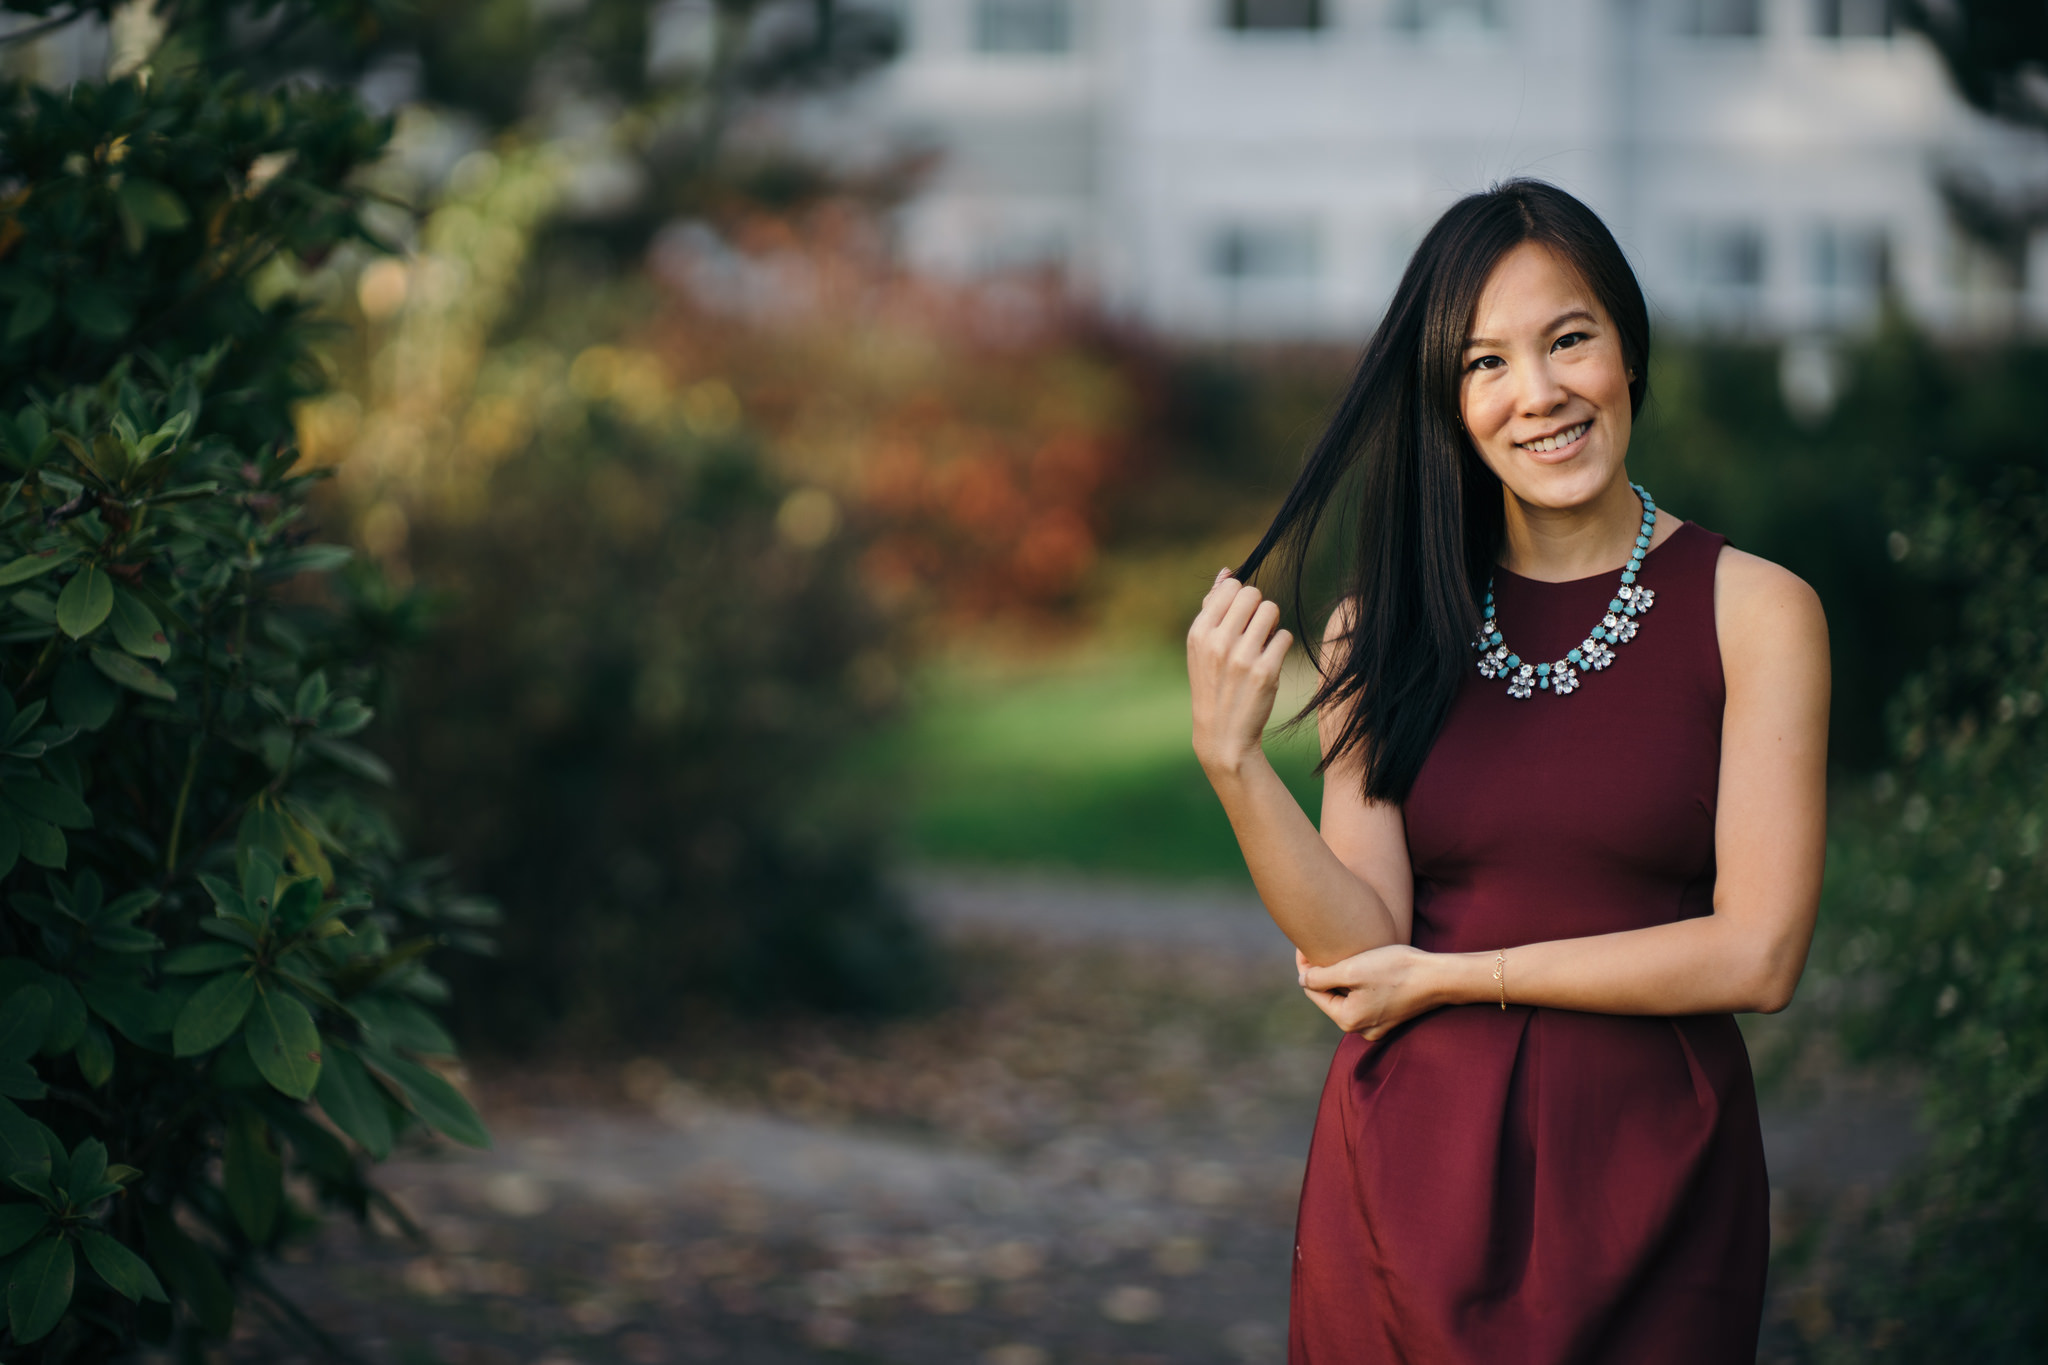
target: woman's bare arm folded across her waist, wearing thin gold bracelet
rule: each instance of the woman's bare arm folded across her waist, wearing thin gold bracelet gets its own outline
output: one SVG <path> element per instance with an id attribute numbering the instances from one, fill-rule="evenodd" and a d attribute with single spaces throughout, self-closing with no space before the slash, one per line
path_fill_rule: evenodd
<path id="1" fill-rule="evenodd" d="M 1610 1015 L 1778 1011 L 1806 968 L 1827 843 L 1827 622 L 1800 579 L 1722 551 L 1714 620 L 1729 698 L 1714 821 L 1714 913 L 1511 948 L 1507 999 Z M 1739 647 L 1731 649 L 1731 643 Z M 1489 954 L 1362 954 L 1303 966 L 1337 1023 L 1378 1038 L 1438 1005 L 1497 1001 Z"/>

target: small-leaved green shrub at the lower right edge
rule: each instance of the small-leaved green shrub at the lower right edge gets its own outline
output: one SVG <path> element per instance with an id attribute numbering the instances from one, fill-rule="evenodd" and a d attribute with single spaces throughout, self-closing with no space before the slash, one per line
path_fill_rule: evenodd
<path id="1" fill-rule="evenodd" d="M 1819 1359 L 2040 1361 L 2048 1306 L 2048 497 L 1948 481 L 1909 563 L 1966 585 L 1901 694 L 1896 774 L 1837 821 L 1821 966 L 1851 1056 L 1925 1074 L 1931 1148 L 1819 1283 Z M 1833 1355 L 1829 1355 L 1833 1351 Z"/>

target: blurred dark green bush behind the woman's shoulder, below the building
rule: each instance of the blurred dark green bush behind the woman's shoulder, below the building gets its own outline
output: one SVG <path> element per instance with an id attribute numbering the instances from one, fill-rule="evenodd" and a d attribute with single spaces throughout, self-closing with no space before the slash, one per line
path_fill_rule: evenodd
<path id="1" fill-rule="evenodd" d="M 2038 432 L 2038 346 L 1942 348 L 1890 327 L 1841 348 L 1841 397 L 1800 422 L 1778 346 L 1677 344 L 1651 366 L 1630 467 L 1679 516 L 1821 593 L 1835 655 L 1831 759 L 1888 761 L 1886 706 L 1956 639 L 1956 583 L 1894 559 L 1894 530 L 1954 473 L 1982 485 Z"/>

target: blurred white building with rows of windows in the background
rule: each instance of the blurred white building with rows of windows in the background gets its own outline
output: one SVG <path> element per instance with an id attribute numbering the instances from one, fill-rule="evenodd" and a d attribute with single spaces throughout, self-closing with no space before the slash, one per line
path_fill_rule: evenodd
<path id="1" fill-rule="evenodd" d="M 924 270 L 1053 266 L 1182 336 L 1358 338 L 1436 213 L 1530 174 L 1608 219 L 1663 323 L 1839 332 L 1886 289 L 1939 329 L 2048 323 L 2044 244 L 2001 266 L 1935 188 L 2042 149 L 1970 115 L 1888 0 L 897 10 L 860 104 L 942 151 L 903 215 Z"/>

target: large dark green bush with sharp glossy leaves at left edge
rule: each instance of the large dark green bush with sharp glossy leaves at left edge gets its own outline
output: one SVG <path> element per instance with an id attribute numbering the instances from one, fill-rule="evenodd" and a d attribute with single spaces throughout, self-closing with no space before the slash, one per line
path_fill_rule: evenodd
<path id="1" fill-rule="evenodd" d="M 190 68 L 0 96 L 10 1361 L 199 1359 L 297 1189 L 362 1216 L 410 1128 L 485 1142 L 422 1058 L 426 956 L 487 913 L 399 860 L 352 739 L 410 608 L 311 540 L 307 325 L 254 289 L 358 233 L 385 135 Z"/>

